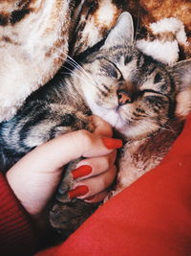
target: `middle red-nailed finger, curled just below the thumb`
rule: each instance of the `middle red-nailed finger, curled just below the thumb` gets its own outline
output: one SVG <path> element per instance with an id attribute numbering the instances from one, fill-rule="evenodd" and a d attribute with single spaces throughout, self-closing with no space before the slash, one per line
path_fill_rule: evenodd
<path id="1" fill-rule="evenodd" d="M 112 151 L 104 156 L 86 158 L 77 164 L 76 168 L 71 174 L 77 181 L 84 178 L 89 178 L 91 176 L 100 175 L 114 165 L 116 154 L 117 151 Z"/>

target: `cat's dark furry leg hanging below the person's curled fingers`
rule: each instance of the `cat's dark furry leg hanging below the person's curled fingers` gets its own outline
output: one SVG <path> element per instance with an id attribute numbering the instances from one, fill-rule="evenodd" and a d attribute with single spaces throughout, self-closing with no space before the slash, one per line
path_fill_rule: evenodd
<path id="1" fill-rule="evenodd" d="M 77 198 L 69 198 L 76 181 L 71 172 L 81 159 L 71 162 L 64 170 L 61 183 L 58 186 L 49 220 L 53 229 L 56 230 L 60 240 L 66 239 L 84 221 L 86 221 L 97 209 L 100 203 L 89 203 Z"/>

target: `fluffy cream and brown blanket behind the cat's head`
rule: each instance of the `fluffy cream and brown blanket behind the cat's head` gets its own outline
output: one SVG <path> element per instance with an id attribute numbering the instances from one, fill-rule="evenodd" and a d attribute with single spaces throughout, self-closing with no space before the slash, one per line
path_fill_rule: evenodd
<path id="1" fill-rule="evenodd" d="M 74 57 L 95 45 L 125 11 L 133 15 L 138 38 L 172 38 L 153 33 L 150 24 L 176 17 L 191 42 L 190 0 L 0 1 L 0 122 L 53 78 L 68 52 Z M 191 47 L 180 45 L 180 59 L 190 57 Z"/>

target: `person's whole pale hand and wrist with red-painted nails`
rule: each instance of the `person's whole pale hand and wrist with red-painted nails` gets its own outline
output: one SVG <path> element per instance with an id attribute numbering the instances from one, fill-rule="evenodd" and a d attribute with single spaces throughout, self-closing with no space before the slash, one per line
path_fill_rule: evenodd
<path id="1" fill-rule="evenodd" d="M 94 116 L 95 132 L 78 130 L 61 135 L 36 147 L 25 155 L 7 173 L 8 182 L 15 196 L 33 216 L 38 216 L 45 208 L 60 181 L 63 166 L 81 156 L 87 157 L 79 166 L 91 166 L 92 172 L 80 177 L 77 186 L 69 192 L 71 198 L 79 196 L 80 186 L 86 188 L 86 194 L 77 198 L 96 195 L 93 201 L 106 196 L 106 188 L 116 176 L 114 165 L 120 140 L 109 138 L 112 128 L 100 118 Z M 74 178 L 84 173 L 74 170 Z M 81 195 L 81 194 L 80 194 Z"/>

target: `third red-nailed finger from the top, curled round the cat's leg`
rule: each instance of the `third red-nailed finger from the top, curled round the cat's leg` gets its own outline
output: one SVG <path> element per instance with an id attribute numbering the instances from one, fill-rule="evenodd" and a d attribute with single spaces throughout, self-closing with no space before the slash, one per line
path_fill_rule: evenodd
<path id="1" fill-rule="evenodd" d="M 106 190 L 113 182 L 117 174 L 116 166 L 101 175 L 90 177 L 75 184 L 69 191 L 69 198 L 89 198 Z"/>

